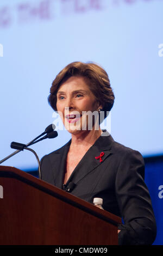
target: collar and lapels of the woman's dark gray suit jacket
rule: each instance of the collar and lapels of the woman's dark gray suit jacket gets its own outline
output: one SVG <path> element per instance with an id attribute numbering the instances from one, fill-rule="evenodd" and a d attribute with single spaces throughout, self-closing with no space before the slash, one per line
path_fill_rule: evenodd
<path id="1" fill-rule="evenodd" d="M 91 146 L 91 148 L 86 152 L 83 156 L 82 160 L 78 163 L 76 168 L 73 170 L 70 178 L 66 182 L 66 185 L 73 181 L 77 184 L 78 181 L 82 180 L 87 174 L 93 171 L 96 167 L 102 164 L 105 159 L 112 154 L 112 143 L 114 139 L 111 137 L 110 133 L 106 130 L 103 130 L 102 135 L 96 140 L 96 142 Z M 70 148 L 71 139 L 68 141 L 64 147 L 54 151 L 55 154 L 58 154 L 58 171 L 55 169 L 54 163 L 54 170 L 57 171 L 57 175 L 55 176 L 54 185 L 62 188 L 64 175 L 66 170 L 66 159 L 67 153 Z M 102 156 L 102 162 L 99 159 L 95 159 L 96 156 L 99 156 L 102 152 L 104 155 Z M 56 159 L 55 159 L 56 161 Z"/>

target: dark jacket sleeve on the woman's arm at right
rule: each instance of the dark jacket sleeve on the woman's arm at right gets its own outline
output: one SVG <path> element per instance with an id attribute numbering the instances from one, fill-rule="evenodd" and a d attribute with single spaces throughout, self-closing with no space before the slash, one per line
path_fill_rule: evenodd
<path id="1" fill-rule="evenodd" d="M 124 224 L 118 226 L 119 245 L 152 245 L 156 236 L 156 222 L 148 188 L 144 182 L 145 163 L 136 150 L 128 150 L 122 157 L 115 190 Z"/>

